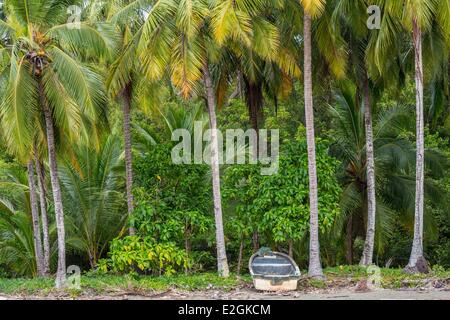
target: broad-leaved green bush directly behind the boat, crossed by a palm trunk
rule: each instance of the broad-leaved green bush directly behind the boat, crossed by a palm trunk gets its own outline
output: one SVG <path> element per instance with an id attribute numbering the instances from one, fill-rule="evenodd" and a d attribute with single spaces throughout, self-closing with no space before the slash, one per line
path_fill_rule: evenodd
<path id="1" fill-rule="evenodd" d="M 319 222 L 324 233 L 339 215 L 340 187 L 335 179 L 338 162 L 328 156 L 328 145 L 317 141 Z M 224 194 L 234 203 L 236 216 L 228 225 L 238 237 L 264 233 L 269 243 L 300 240 L 308 233 L 309 191 L 306 141 L 299 138 L 281 148 L 279 171 L 262 176 L 259 166 L 232 166 L 224 177 Z"/>

